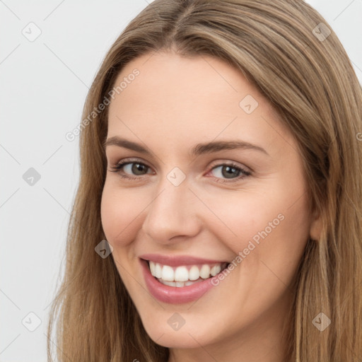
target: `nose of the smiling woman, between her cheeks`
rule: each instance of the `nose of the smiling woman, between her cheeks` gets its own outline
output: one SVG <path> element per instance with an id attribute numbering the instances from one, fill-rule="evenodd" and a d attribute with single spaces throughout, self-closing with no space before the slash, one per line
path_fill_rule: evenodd
<path id="1" fill-rule="evenodd" d="M 156 243 L 169 245 L 193 238 L 201 230 L 200 202 L 186 181 L 175 186 L 167 179 L 146 209 L 142 229 Z"/>

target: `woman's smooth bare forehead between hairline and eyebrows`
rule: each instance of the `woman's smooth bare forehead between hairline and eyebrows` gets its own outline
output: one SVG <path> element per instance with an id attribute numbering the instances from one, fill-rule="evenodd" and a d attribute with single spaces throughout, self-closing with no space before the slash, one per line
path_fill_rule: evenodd
<path id="1" fill-rule="evenodd" d="M 165 151 L 216 138 L 269 148 L 290 138 L 268 100 L 221 59 L 144 54 L 124 66 L 115 87 L 121 83 L 110 103 L 108 138 L 147 139 Z"/>

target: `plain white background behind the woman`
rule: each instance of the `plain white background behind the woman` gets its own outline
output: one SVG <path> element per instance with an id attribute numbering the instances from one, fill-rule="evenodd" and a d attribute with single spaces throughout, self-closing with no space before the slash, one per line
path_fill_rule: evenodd
<path id="1" fill-rule="evenodd" d="M 361 81 L 362 0 L 308 2 L 337 33 Z M 78 137 L 65 134 L 81 122 L 107 49 L 146 6 L 0 0 L 0 362 L 47 360 L 47 313 L 79 175 Z M 33 42 L 22 34 L 30 22 L 42 32 Z M 29 168 L 40 174 L 33 186 L 23 180 Z M 35 326 L 30 312 L 41 320 L 34 332 L 22 324 Z"/>

